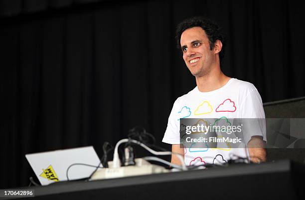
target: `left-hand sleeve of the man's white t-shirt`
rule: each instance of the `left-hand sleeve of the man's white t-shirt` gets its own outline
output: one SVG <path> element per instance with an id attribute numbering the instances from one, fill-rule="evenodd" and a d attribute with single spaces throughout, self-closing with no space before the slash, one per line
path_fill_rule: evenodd
<path id="1" fill-rule="evenodd" d="M 162 142 L 167 144 L 180 144 L 180 122 L 178 120 L 178 99 L 174 102 L 168 117 L 167 127 Z"/>

